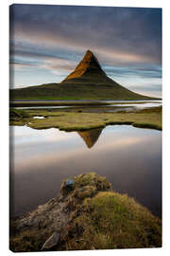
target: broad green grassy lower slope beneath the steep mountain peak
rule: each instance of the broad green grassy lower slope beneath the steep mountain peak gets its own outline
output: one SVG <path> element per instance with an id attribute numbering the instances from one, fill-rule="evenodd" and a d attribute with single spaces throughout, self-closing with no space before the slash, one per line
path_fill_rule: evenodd
<path id="1" fill-rule="evenodd" d="M 73 81 L 72 81 L 73 82 Z M 14 100 L 149 100 L 143 95 L 133 93 L 123 86 L 51 83 L 10 90 L 10 101 Z"/>

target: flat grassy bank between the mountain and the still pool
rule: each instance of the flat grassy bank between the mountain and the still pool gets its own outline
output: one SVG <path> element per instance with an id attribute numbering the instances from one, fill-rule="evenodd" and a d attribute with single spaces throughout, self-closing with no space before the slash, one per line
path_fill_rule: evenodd
<path id="1" fill-rule="evenodd" d="M 18 112 L 20 110 L 16 110 Z M 109 124 L 131 124 L 136 127 L 161 130 L 161 107 L 132 113 L 79 113 L 57 112 L 50 109 L 26 110 L 30 118 L 10 119 L 11 125 L 24 125 L 34 129 L 59 128 L 64 131 L 84 131 L 102 128 Z M 45 119 L 33 119 L 42 116 Z"/>

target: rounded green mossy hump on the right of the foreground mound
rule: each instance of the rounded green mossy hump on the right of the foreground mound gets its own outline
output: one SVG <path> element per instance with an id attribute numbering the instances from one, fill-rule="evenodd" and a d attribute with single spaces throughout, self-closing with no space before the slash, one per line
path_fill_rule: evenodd
<path id="1" fill-rule="evenodd" d="M 74 216 L 65 249 L 161 247 L 161 221 L 134 199 L 116 192 L 86 198 Z"/>

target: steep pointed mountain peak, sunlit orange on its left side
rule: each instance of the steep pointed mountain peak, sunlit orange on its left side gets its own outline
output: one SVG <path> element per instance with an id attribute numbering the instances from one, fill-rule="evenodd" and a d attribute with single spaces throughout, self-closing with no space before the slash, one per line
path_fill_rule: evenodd
<path id="1" fill-rule="evenodd" d="M 91 50 L 87 50 L 82 61 L 77 64 L 76 69 L 64 79 L 62 82 L 70 82 L 72 79 L 82 78 L 84 76 L 95 76 L 102 75 L 106 76 L 102 70 L 97 58 L 93 55 Z"/>

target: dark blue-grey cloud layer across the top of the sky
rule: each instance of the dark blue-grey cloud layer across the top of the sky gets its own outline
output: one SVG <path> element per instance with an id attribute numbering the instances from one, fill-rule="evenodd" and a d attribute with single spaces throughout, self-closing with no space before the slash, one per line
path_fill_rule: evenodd
<path id="1" fill-rule="evenodd" d="M 161 63 L 161 9 L 14 5 L 16 37 L 44 44 L 114 50 Z"/>

